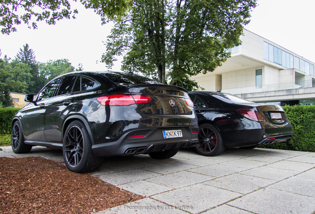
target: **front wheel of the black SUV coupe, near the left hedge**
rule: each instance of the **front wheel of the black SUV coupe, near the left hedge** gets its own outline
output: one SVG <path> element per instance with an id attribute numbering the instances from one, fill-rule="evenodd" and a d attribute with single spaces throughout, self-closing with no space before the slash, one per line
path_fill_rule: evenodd
<path id="1" fill-rule="evenodd" d="M 29 153 L 32 149 L 31 145 L 24 143 L 22 127 L 19 121 L 15 121 L 11 129 L 11 146 L 16 154 Z"/>

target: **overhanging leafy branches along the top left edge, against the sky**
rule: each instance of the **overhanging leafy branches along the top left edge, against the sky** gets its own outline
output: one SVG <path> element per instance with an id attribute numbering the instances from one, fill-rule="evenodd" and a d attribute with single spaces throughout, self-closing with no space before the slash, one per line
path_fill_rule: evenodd
<path id="1" fill-rule="evenodd" d="M 75 0 L 76 1 L 76 0 Z M 75 18 L 77 9 L 71 9 L 69 0 L 1 0 L 0 26 L 2 34 L 17 31 L 16 25 L 24 22 L 36 29 L 39 21 L 54 25 L 56 20 Z M 102 17 L 102 23 L 122 15 L 130 0 L 80 0 L 85 8 L 94 9 Z M 30 22 L 32 22 L 30 24 Z"/>

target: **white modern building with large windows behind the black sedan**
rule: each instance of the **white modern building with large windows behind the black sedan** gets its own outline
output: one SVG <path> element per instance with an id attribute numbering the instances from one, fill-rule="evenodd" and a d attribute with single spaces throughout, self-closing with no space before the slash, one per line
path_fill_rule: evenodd
<path id="1" fill-rule="evenodd" d="M 315 104 L 314 62 L 245 29 L 240 39 L 222 66 L 191 79 L 256 103 Z"/>

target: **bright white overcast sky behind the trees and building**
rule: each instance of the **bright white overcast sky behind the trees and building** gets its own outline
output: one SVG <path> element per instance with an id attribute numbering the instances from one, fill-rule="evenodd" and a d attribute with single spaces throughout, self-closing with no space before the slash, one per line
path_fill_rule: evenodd
<path id="1" fill-rule="evenodd" d="M 315 1 L 258 0 L 258 4 L 245 29 L 315 62 Z M 84 71 L 107 70 L 100 60 L 105 53 L 103 41 L 112 25 L 102 26 L 93 10 L 77 5 L 79 14 L 74 20 L 57 21 L 56 25 L 40 22 L 37 30 L 21 24 L 17 32 L 8 36 L 0 34 L 1 58 L 5 54 L 14 58 L 27 43 L 37 61 L 67 58 L 75 67 L 82 63 Z M 120 63 L 115 63 L 111 70 L 120 70 Z"/>

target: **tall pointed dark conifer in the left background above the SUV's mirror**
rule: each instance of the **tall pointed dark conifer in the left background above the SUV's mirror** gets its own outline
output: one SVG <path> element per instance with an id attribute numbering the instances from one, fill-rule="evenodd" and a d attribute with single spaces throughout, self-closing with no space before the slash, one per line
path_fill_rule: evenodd
<path id="1" fill-rule="evenodd" d="M 37 94 L 41 90 L 43 80 L 39 78 L 38 63 L 36 61 L 35 53 L 30 49 L 29 45 L 23 45 L 23 49 L 16 54 L 13 63 L 25 63 L 30 66 L 30 73 L 32 75 L 31 80 L 28 82 L 28 86 L 25 89 L 27 94 Z"/>

